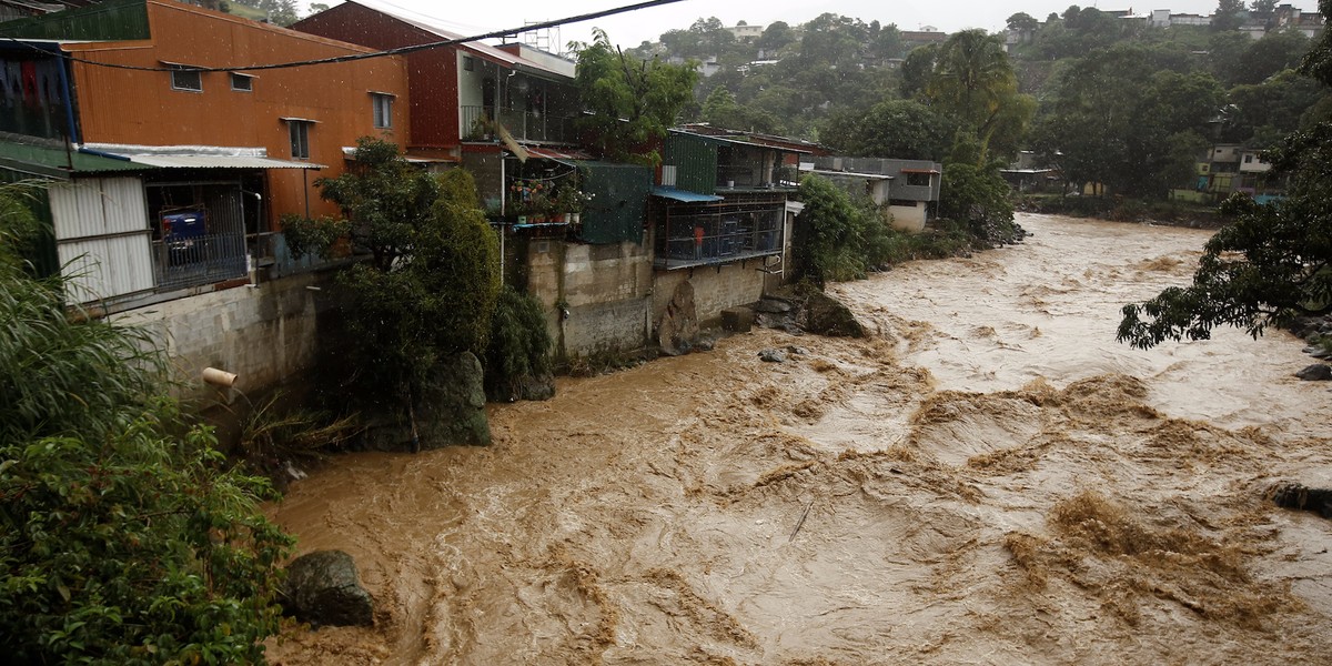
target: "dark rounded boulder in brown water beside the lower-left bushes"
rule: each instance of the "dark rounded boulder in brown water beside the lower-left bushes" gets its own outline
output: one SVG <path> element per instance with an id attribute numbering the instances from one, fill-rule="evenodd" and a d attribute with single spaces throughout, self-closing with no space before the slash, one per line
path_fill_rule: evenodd
<path id="1" fill-rule="evenodd" d="M 281 602 L 284 613 L 313 626 L 374 626 L 374 599 L 341 550 L 316 550 L 288 565 Z"/>

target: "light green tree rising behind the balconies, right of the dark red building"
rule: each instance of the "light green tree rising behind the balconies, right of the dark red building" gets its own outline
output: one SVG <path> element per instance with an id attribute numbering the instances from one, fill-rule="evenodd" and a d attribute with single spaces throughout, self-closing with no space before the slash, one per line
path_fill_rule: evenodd
<path id="1" fill-rule="evenodd" d="M 578 51 L 578 97 L 589 113 L 579 128 L 609 160 L 661 160 L 653 144 L 666 136 L 693 99 L 698 73 L 690 65 L 635 60 L 610 44 L 603 31 Z"/>

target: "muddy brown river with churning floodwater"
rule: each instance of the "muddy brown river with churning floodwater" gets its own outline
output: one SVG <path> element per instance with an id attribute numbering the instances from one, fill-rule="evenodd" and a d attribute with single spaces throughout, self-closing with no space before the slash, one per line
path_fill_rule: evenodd
<path id="1" fill-rule="evenodd" d="M 1327 663 L 1332 522 L 1263 498 L 1332 486 L 1300 342 L 1120 345 L 1208 232 L 1019 221 L 835 285 L 868 340 L 757 330 L 492 406 L 490 448 L 334 458 L 270 514 L 377 623 L 270 661 Z"/>

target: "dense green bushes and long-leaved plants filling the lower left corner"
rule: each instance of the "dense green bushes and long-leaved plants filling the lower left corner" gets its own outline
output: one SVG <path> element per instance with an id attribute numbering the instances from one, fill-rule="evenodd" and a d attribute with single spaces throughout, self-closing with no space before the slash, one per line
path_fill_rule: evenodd
<path id="1" fill-rule="evenodd" d="M 25 274 L 21 212 L 0 209 L 5 661 L 262 662 L 292 543 L 258 510 L 270 488 L 181 416 L 153 337 Z"/>

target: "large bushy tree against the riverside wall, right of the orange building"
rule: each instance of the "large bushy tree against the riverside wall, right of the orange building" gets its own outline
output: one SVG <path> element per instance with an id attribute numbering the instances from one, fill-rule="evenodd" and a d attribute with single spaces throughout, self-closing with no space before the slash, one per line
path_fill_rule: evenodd
<path id="1" fill-rule="evenodd" d="M 485 357 L 500 294 L 498 238 L 461 169 L 438 178 L 409 164 L 396 144 L 362 137 L 354 168 L 320 178 L 320 196 L 346 221 L 284 218 L 293 253 L 328 254 L 345 233 L 369 261 L 338 274 L 345 322 L 366 400 L 388 397 L 412 418 L 432 373 L 445 358 Z"/>

